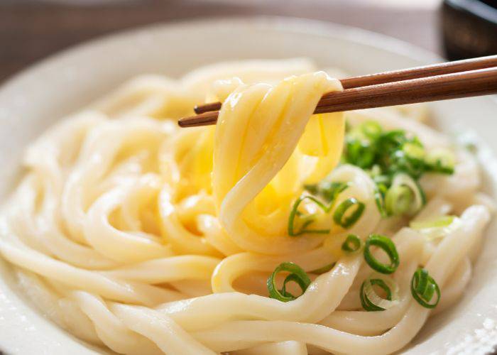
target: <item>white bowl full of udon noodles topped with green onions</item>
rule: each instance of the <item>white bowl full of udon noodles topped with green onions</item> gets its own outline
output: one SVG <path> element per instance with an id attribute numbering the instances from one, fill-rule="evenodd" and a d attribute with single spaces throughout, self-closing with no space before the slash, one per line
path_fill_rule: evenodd
<path id="1" fill-rule="evenodd" d="M 7 354 L 485 354 L 497 104 L 312 115 L 441 61 L 283 18 L 155 25 L 0 89 Z M 180 129 L 203 102 L 214 126 Z"/>

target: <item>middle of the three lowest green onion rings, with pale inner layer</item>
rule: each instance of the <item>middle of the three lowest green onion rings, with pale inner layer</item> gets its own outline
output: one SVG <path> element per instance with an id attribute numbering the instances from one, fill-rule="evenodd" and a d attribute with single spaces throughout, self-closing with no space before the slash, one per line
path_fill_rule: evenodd
<path id="1" fill-rule="evenodd" d="M 374 286 L 383 290 L 384 298 L 376 293 Z M 373 273 L 362 283 L 359 297 L 362 307 L 368 312 L 388 310 L 398 305 L 398 285 L 387 275 Z"/>

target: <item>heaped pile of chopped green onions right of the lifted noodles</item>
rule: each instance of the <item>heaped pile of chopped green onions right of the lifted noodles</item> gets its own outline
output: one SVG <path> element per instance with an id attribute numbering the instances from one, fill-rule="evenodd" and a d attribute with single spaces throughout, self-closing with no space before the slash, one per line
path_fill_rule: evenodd
<path id="1" fill-rule="evenodd" d="M 351 127 L 346 133 L 344 163 L 366 170 L 376 183 L 374 197 L 382 217 L 412 215 L 424 196 L 417 180 L 427 172 L 454 173 L 452 152 L 438 149 L 427 152 L 417 137 L 402 130 L 384 131 L 375 121 Z M 398 174 L 415 183 L 408 188 L 393 183 Z M 412 202 L 412 203 L 410 203 Z"/>

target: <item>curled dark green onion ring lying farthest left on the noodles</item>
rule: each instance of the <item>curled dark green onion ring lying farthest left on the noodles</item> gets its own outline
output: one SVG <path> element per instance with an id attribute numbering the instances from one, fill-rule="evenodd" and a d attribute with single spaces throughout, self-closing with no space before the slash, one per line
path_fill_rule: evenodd
<path id="1" fill-rule="evenodd" d="M 290 274 L 283 281 L 283 288 L 281 288 L 281 290 L 278 290 L 278 288 L 276 287 L 275 278 L 276 275 L 278 275 L 278 273 L 280 273 L 281 271 L 288 271 Z M 286 290 L 286 285 L 289 282 L 297 283 L 297 285 L 299 285 L 300 289 L 302 290 L 302 294 L 305 293 L 305 290 L 307 290 L 311 283 L 309 276 L 307 276 L 307 273 L 305 273 L 305 271 L 297 264 L 291 262 L 280 263 L 280 265 L 275 268 L 271 276 L 269 276 L 268 278 L 267 285 L 269 297 L 280 300 L 281 302 L 295 300 L 299 296 L 295 297 Z"/>

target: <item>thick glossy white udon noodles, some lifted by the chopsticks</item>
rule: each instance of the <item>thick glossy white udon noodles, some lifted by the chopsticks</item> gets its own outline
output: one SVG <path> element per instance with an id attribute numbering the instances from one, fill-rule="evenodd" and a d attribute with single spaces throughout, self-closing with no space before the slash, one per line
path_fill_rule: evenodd
<path id="1" fill-rule="evenodd" d="M 425 107 L 312 115 L 339 90 L 300 59 L 131 80 L 28 147 L 1 214 L 1 256 L 45 315 L 120 354 L 398 351 L 459 300 L 493 207 L 473 155 L 430 128 Z M 176 125 L 217 100 L 217 126 Z M 449 152 L 454 169 L 395 175 L 381 192 L 378 168 L 343 158 L 345 132 L 349 144 L 360 127 L 417 137 L 411 152 Z M 400 261 L 383 281 L 366 260 L 371 234 L 393 241 Z M 273 271 L 289 262 L 298 271 L 278 290 L 288 268 Z M 431 287 L 419 302 L 417 270 Z M 435 285 L 437 307 L 423 306 Z"/>

